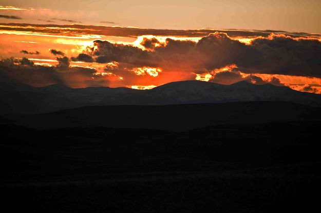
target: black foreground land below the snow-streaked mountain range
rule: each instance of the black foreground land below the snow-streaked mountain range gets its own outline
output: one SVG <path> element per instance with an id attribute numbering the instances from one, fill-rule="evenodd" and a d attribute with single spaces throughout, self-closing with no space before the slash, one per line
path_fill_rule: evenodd
<path id="1" fill-rule="evenodd" d="M 245 110 L 241 108 L 245 103 L 234 103 L 234 108 L 230 104 L 220 107 L 216 115 L 222 118 L 237 111 L 234 116 L 215 120 L 209 105 L 201 104 L 197 105 L 200 112 L 207 113 L 200 116 L 213 123 L 199 126 L 202 119 L 192 116 L 190 122 L 184 120 L 183 129 L 172 130 L 153 129 L 157 127 L 153 113 L 149 114 L 155 111 L 153 106 L 137 107 L 143 109 L 138 113 L 143 121 L 149 117 L 152 123 L 147 128 L 138 122 L 139 129 L 112 123 L 94 126 L 99 123 L 88 119 L 84 108 L 81 113 L 76 109 L 3 116 L 2 208 L 8 208 L 6 212 L 320 211 L 319 109 L 248 102 Z M 183 109 L 193 114 L 191 108 L 173 106 L 167 114 Z M 272 109 L 284 108 L 288 110 L 272 113 Z M 64 117 L 66 112 L 83 117 L 72 120 L 72 116 Z M 109 111 L 101 114 L 108 115 L 115 117 Z M 175 127 L 176 119 L 182 118 L 182 113 L 178 115 L 159 123 Z M 121 119 L 128 123 L 133 117 Z M 83 122 L 76 125 L 77 120 Z M 68 125 L 61 125 L 64 122 Z"/>

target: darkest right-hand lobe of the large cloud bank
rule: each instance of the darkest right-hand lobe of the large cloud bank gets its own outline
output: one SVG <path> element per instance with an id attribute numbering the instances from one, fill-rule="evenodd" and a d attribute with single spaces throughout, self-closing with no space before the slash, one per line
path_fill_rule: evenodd
<path id="1" fill-rule="evenodd" d="M 321 42 L 316 39 L 273 35 L 253 40 L 250 48 L 253 53 L 237 61 L 243 72 L 321 77 Z"/>

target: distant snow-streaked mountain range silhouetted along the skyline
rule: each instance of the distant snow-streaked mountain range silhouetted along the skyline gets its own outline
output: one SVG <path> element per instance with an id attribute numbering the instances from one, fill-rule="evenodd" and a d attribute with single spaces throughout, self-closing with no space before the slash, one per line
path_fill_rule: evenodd
<path id="1" fill-rule="evenodd" d="M 321 106 L 321 95 L 271 84 L 238 82 L 222 85 L 204 81 L 178 81 L 152 90 L 129 88 L 79 88 L 62 84 L 34 88 L 5 80 L 0 83 L 0 113 L 44 113 L 91 105 L 167 105 L 237 101 L 290 101 Z"/>

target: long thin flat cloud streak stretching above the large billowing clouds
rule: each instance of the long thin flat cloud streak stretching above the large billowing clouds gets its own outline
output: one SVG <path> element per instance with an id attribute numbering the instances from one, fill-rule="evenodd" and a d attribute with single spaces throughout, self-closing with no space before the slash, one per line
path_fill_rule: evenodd
<path id="1" fill-rule="evenodd" d="M 51 19 L 53 20 L 53 19 Z M 58 20 L 56 18 L 55 20 Z M 77 22 L 75 20 L 61 19 L 63 22 Z M 48 28 L 51 27 L 51 28 Z M 80 37 L 84 35 L 100 36 L 119 36 L 119 37 L 138 37 L 143 35 L 154 36 L 175 36 L 175 37 L 204 37 L 210 33 L 226 33 L 232 38 L 255 38 L 258 36 L 268 37 L 271 33 L 285 34 L 291 37 L 310 37 L 321 38 L 321 34 L 310 34 L 303 32 L 285 32 L 271 30 L 217 30 L 217 29 L 196 29 L 196 30 L 169 30 L 169 29 L 144 29 L 144 28 L 127 28 L 127 27 L 108 27 L 96 25 L 53 25 L 53 24 L 27 24 L 27 23 L 2 23 L 0 30 L 30 32 L 30 33 L 47 33 L 52 35 L 65 35 Z"/>

